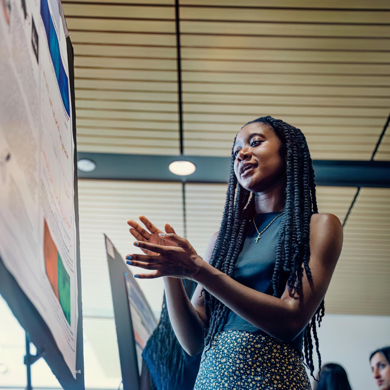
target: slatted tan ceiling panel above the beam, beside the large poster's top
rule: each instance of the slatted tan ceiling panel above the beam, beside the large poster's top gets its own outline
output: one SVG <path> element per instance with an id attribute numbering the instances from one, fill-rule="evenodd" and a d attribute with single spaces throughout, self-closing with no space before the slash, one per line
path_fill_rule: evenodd
<path id="1" fill-rule="evenodd" d="M 179 154 L 174 2 L 148 3 L 63 2 L 79 151 Z"/>

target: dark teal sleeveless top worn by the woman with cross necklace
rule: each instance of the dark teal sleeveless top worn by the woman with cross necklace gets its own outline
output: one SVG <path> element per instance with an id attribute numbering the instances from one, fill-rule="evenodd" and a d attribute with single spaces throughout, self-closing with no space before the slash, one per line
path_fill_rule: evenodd
<path id="1" fill-rule="evenodd" d="M 261 213 L 255 215 L 255 223 L 259 232 L 261 232 L 277 215 L 281 212 Z M 248 223 L 248 229 L 243 248 L 238 255 L 234 267 L 234 279 L 237 282 L 260 291 L 264 294 L 273 295 L 272 275 L 276 261 L 276 247 L 278 243 L 278 234 L 283 215 L 271 223 L 271 225 L 261 234 L 261 239 L 256 243 L 257 231 L 253 220 Z M 284 284 L 287 282 L 288 275 L 283 275 Z M 248 323 L 242 317 L 238 316 L 232 310 L 227 308 L 227 312 L 222 319 L 218 331 L 223 330 L 245 330 L 247 332 L 256 332 L 267 335 L 264 331 Z M 302 352 L 303 331 L 289 344 Z"/>

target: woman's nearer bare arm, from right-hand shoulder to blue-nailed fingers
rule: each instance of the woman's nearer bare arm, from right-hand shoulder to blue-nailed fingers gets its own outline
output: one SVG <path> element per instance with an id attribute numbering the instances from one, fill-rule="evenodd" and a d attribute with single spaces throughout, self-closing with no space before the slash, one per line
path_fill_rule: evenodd
<path id="1" fill-rule="evenodd" d="M 277 339 L 289 342 L 305 328 L 324 298 L 339 259 L 343 232 L 336 216 L 332 214 L 312 216 L 310 222 L 312 280 L 308 280 L 304 274 L 300 291 L 293 294 L 286 286 L 281 298 L 246 287 L 218 271 L 208 262 L 199 261 L 201 259 L 188 241 L 176 234 L 163 236 L 175 242 L 179 248 L 137 242 L 141 248 L 151 249 L 162 255 L 159 262 L 153 256 L 135 255 L 136 261 L 133 265 L 157 270 L 140 277 L 172 275 L 190 278 L 249 323 Z"/>

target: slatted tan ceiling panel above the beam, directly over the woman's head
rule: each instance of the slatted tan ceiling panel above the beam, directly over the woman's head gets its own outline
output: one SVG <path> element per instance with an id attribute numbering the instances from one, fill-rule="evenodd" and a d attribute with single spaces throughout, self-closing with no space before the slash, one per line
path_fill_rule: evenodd
<path id="1" fill-rule="evenodd" d="M 390 110 L 390 13 L 321 4 L 181 2 L 186 154 L 229 156 L 243 124 L 271 115 L 302 129 L 313 159 L 371 159 Z"/>

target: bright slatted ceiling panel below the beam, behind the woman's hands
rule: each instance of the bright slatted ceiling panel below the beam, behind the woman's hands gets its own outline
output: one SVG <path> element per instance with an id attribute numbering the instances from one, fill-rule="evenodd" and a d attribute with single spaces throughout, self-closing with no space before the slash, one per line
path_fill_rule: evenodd
<path id="1" fill-rule="evenodd" d="M 169 222 L 183 235 L 181 183 L 136 181 L 78 181 L 80 255 L 83 312 L 87 316 L 113 316 L 112 296 L 105 252 L 105 233 L 122 256 L 140 253 L 132 243 L 126 223 L 146 215 L 158 227 Z M 134 271 L 134 269 L 132 270 Z M 159 316 L 163 281 L 137 280 L 153 312 Z M 99 288 L 96 288 L 97 284 Z"/>

